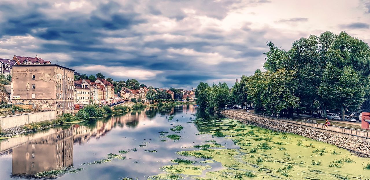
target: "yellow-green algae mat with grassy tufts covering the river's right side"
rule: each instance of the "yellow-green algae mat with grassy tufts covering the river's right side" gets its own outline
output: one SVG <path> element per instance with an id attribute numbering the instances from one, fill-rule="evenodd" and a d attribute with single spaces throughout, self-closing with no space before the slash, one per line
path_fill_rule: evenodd
<path id="1" fill-rule="evenodd" d="M 209 171 L 204 176 L 192 177 L 197 180 L 222 179 L 370 179 L 369 158 L 355 156 L 345 149 L 298 136 L 277 132 L 257 126 L 242 124 L 232 119 L 195 120 L 202 133 L 224 136 L 240 149 L 213 149 L 216 141 L 211 141 L 196 151 L 180 151 L 184 157 L 200 157 L 220 162 L 222 170 Z M 293 128 L 293 127 L 292 127 Z M 208 141 L 209 142 L 209 141 Z M 206 143 L 206 142 L 205 142 Z M 199 168 L 206 169 L 206 162 Z M 194 167 L 192 164 L 179 163 L 164 171 L 168 174 L 189 176 L 197 173 L 183 171 Z M 175 171 L 173 170 L 175 169 Z M 168 174 L 153 179 L 168 179 Z M 182 177 L 180 177 L 182 178 Z M 176 178 L 174 178 L 176 179 Z"/>

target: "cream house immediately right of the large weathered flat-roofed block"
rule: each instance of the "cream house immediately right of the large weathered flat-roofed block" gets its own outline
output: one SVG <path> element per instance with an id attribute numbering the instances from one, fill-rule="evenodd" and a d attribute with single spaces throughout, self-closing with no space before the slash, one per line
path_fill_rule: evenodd
<path id="1" fill-rule="evenodd" d="M 91 99 L 91 92 L 88 85 L 81 80 L 74 81 L 74 104 L 88 104 Z"/>

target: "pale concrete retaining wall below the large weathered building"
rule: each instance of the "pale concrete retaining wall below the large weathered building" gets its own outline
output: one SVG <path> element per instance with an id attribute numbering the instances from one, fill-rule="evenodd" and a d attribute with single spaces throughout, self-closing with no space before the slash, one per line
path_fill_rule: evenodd
<path id="1" fill-rule="evenodd" d="M 24 124 L 55 119 L 55 111 L 15 114 L 0 117 L 1 129 L 22 126 Z"/>

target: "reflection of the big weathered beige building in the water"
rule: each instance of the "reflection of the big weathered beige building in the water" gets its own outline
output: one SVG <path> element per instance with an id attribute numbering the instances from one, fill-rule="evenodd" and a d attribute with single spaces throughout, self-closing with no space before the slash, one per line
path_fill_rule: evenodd
<path id="1" fill-rule="evenodd" d="M 73 166 L 73 127 L 53 130 L 54 134 L 13 148 L 13 176 L 29 176 Z"/>

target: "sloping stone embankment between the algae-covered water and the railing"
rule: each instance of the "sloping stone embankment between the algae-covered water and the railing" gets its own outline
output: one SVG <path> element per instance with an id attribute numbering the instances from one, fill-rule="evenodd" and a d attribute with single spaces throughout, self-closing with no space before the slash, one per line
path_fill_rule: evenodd
<path id="1" fill-rule="evenodd" d="M 368 138 L 329 130 L 316 129 L 313 127 L 289 122 L 277 122 L 268 118 L 237 113 L 229 110 L 222 111 L 221 114 L 224 114 L 232 119 L 240 120 L 243 123 L 254 124 L 266 129 L 298 134 L 300 136 L 323 141 L 325 143 L 333 144 L 343 149 L 353 151 L 361 157 L 370 157 L 370 139 Z"/>

